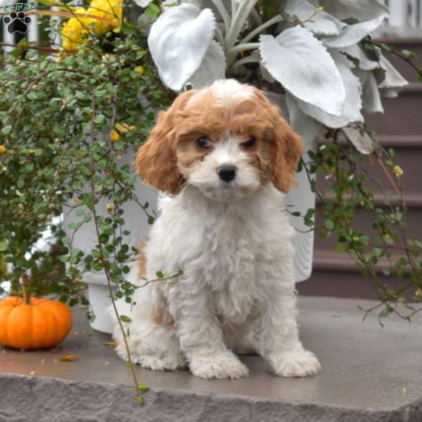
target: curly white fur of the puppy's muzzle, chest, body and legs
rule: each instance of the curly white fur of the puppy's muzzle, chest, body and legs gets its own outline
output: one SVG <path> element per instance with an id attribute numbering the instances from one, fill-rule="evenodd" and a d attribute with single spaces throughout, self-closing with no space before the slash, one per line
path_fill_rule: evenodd
<path id="1" fill-rule="evenodd" d="M 132 319 L 125 324 L 132 359 L 155 370 L 188 364 L 203 378 L 240 378 L 248 368 L 235 352 L 255 350 L 278 376 L 311 376 L 320 364 L 298 337 L 285 195 L 260 183 L 235 138 L 227 134 L 193 165 L 177 196 L 160 199 L 145 248 L 146 277 L 183 274 L 137 289 L 133 307 L 117 302 Z M 238 168 L 229 185 L 215 172 L 227 162 Z M 143 284 L 137 266 L 129 281 Z M 126 360 L 117 321 L 113 335 Z"/>

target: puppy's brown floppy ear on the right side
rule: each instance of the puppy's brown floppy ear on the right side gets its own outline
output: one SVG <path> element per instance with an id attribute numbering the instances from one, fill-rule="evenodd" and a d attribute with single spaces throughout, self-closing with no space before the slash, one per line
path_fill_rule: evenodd
<path id="1" fill-rule="evenodd" d="M 301 155 L 305 152 L 302 139 L 293 132 L 288 122 L 277 110 L 275 125 L 276 156 L 272 181 L 279 191 L 288 192 L 296 184 L 295 171 Z"/>

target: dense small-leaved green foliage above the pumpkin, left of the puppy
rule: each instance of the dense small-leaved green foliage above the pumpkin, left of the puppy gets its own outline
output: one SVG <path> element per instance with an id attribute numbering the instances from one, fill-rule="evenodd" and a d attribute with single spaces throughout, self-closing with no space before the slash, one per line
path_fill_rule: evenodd
<path id="1" fill-rule="evenodd" d="M 13 267 L 7 276 L 0 272 L 0 283 L 10 279 L 15 293 L 26 273 L 30 293 L 86 303 L 83 274 L 91 269 L 106 271 L 117 296 L 130 301 L 134 292 L 123 278 L 135 251 L 123 241 L 122 205 L 136 200 L 151 223 L 155 214 L 133 197 L 134 170 L 119 160 L 139 148 L 154 111 L 167 107 L 172 94 L 160 85 L 146 38 L 125 27 L 125 34 L 91 35 L 70 56 L 9 55 L 0 70 L 0 250 Z M 95 211 L 104 196 L 107 217 Z M 77 210 L 71 231 L 95 219 L 98 244 L 86 256 L 51 223 L 69 203 Z M 47 227 L 56 245 L 50 253 L 34 250 Z"/>

